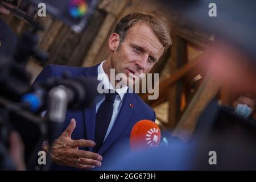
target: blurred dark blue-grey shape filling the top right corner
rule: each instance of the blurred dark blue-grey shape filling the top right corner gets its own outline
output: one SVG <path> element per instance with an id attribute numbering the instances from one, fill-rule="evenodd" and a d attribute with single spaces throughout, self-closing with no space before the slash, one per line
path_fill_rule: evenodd
<path id="1" fill-rule="evenodd" d="M 254 0 L 165 0 L 165 7 L 177 10 L 189 26 L 214 33 L 216 40 L 237 46 L 256 58 L 256 1 Z M 209 4 L 216 4 L 217 16 L 209 16 Z"/>

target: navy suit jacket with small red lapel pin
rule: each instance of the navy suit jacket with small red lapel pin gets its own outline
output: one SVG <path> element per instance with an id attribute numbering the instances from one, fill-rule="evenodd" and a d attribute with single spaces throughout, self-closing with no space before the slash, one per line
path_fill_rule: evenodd
<path id="1" fill-rule="evenodd" d="M 40 75 L 36 78 L 36 81 L 46 80 L 49 77 L 60 77 L 64 71 L 69 71 L 71 77 L 78 77 L 84 75 L 85 77 L 96 77 L 98 72 L 98 65 L 94 67 L 68 67 L 62 65 L 47 65 Z M 130 104 L 133 107 L 130 107 Z M 88 139 L 94 140 L 95 120 L 96 120 L 96 105 L 89 109 L 81 109 L 76 111 L 67 111 L 63 131 L 67 128 L 72 118 L 76 119 L 76 129 L 72 133 L 72 139 Z M 100 147 L 98 154 L 102 155 L 102 167 L 105 163 L 111 164 L 113 157 L 122 157 L 120 151 L 130 149 L 129 139 L 131 129 L 136 122 L 142 119 L 149 119 L 155 121 L 155 111 L 151 109 L 138 94 L 126 93 L 122 103 L 122 107 L 119 111 L 118 117 L 115 120 L 114 126 L 106 138 L 105 142 Z M 92 147 L 80 148 L 80 150 L 92 151 Z M 53 170 L 71 170 L 75 168 L 58 166 L 52 164 Z M 100 169 L 100 168 L 98 168 Z"/>

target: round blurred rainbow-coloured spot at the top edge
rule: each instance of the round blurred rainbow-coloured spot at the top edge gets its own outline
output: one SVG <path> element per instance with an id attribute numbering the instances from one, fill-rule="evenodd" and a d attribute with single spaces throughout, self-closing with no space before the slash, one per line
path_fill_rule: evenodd
<path id="1" fill-rule="evenodd" d="M 71 0 L 69 2 L 69 14 L 73 18 L 80 18 L 88 11 L 88 4 L 85 0 Z"/>

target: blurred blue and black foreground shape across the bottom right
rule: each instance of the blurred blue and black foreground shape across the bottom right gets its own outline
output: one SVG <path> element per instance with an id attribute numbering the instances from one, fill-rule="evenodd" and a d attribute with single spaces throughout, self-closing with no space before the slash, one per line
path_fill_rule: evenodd
<path id="1" fill-rule="evenodd" d="M 162 131 L 168 141 L 138 152 L 118 151 L 103 170 L 256 170 L 255 126 L 212 100 L 189 142 Z M 216 152 L 216 164 L 210 164 Z"/>

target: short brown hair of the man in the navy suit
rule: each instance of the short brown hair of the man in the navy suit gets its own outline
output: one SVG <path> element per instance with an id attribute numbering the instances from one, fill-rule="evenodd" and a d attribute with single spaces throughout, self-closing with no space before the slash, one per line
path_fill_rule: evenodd
<path id="1" fill-rule="evenodd" d="M 124 16 L 115 26 L 114 32 L 120 37 L 120 43 L 125 40 L 129 28 L 137 23 L 146 23 L 162 43 L 164 49 L 171 46 L 172 40 L 166 24 L 152 15 L 132 13 Z"/>

